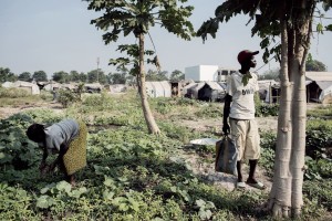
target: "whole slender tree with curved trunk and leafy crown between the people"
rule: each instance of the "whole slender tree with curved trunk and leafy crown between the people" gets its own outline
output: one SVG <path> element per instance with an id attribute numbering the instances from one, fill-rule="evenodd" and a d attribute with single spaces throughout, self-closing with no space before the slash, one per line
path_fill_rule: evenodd
<path id="1" fill-rule="evenodd" d="M 189 40 L 194 33 L 191 23 L 187 20 L 191 15 L 193 7 L 178 6 L 187 0 L 87 0 L 89 10 L 104 11 L 103 15 L 92 20 L 92 23 L 102 30 L 106 44 L 116 42 L 118 34 L 124 36 L 133 33 L 138 40 L 138 77 L 137 84 L 145 122 L 151 134 L 160 130 L 153 117 L 145 86 L 145 36 L 151 27 L 162 24 L 167 31 Z"/>

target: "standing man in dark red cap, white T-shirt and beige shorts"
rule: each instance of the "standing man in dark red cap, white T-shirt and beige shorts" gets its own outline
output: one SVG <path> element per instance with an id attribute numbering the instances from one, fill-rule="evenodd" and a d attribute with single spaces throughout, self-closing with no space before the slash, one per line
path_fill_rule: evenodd
<path id="1" fill-rule="evenodd" d="M 243 50 L 238 54 L 241 69 L 232 73 L 227 81 L 227 95 L 224 107 L 222 131 L 235 141 L 238 150 L 237 172 L 238 188 L 246 188 L 243 182 L 241 165 L 243 160 L 249 160 L 249 177 L 247 185 L 264 189 L 264 185 L 256 180 L 255 172 L 260 157 L 260 145 L 257 123 L 255 120 L 255 93 L 258 91 L 258 80 L 255 73 L 250 73 L 251 67 L 256 67 L 255 55 L 259 52 Z M 228 119 L 229 117 L 229 124 Z"/>

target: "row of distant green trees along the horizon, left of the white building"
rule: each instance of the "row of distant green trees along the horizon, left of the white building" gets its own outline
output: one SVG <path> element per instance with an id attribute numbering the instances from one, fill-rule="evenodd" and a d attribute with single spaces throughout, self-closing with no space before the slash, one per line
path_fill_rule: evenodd
<path id="1" fill-rule="evenodd" d="M 185 78 L 185 74 L 181 71 L 175 70 L 168 76 L 167 71 L 153 71 L 148 70 L 146 74 L 147 81 L 157 82 L 157 81 L 179 81 Z M 8 67 L 0 67 L 0 82 L 48 82 L 55 81 L 58 83 L 101 83 L 101 84 L 132 84 L 135 78 L 129 74 L 129 71 L 126 69 L 118 70 L 115 73 L 105 74 L 103 70 L 92 70 L 86 74 L 84 72 L 79 73 L 77 71 L 64 72 L 59 71 L 54 72 L 51 77 L 48 77 L 48 74 L 44 71 L 35 71 L 33 73 L 22 72 L 21 74 L 14 74 Z"/>

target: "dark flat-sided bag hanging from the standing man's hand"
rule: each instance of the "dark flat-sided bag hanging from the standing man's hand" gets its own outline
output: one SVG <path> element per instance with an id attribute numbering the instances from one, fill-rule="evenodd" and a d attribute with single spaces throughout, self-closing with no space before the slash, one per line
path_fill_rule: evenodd
<path id="1" fill-rule="evenodd" d="M 228 136 L 216 143 L 215 170 L 217 172 L 237 175 L 237 148 Z"/>

